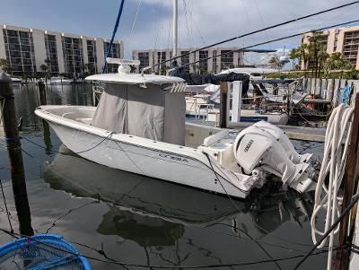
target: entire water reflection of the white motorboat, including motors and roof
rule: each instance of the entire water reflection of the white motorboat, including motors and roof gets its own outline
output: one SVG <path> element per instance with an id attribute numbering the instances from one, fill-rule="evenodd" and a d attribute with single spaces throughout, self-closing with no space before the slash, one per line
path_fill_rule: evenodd
<path id="1" fill-rule="evenodd" d="M 44 172 L 50 187 L 73 196 L 99 194 L 105 201 L 115 201 L 118 205 L 109 206 L 98 232 L 119 235 L 143 247 L 174 245 L 184 234 L 185 225 L 234 225 L 250 238 L 260 239 L 284 222 L 302 226 L 301 222 L 310 219 L 309 194 L 287 191 L 273 195 L 261 189 L 246 200 L 230 200 L 227 196 L 110 169 L 75 155 L 65 146 L 60 147 L 60 152 L 66 154 L 57 153 Z"/>

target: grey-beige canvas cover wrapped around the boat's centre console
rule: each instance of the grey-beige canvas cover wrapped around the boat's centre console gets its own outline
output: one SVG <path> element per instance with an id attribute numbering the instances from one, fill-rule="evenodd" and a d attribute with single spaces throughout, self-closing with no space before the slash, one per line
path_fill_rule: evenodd
<path id="1" fill-rule="evenodd" d="M 157 84 L 106 83 L 92 126 L 170 144 L 185 144 L 184 92 Z"/>

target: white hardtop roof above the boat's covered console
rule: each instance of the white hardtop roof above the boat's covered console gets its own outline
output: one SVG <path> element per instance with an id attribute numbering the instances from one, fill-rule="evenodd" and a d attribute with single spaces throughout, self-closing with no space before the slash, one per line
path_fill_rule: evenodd
<path id="1" fill-rule="evenodd" d="M 179 77 L 153 75 L 153 74 L 94 74 L 85 78 L 86 81 L 101 81 L 111 83 L 153 83 L 153 84 L 167 84 L 167 83 L 185 83 L 185 81 Z"/>

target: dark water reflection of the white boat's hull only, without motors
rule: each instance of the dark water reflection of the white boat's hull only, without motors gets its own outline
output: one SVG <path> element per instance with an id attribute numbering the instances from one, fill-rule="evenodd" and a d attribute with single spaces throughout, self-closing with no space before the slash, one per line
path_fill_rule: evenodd
<path id="1" fill-rule="evenodd" d="M 72 196 L 99 194 L 103 201 L 116 202 L 126 212 L 204 227 L 238 213 L 226 196 L 111 169 L 83 159 L 65 145 L 60 146 L 60 152 L 44 171 L 43 179 L 49 187 Z M 236 203 L 244 212 L 243 202 Z"/>

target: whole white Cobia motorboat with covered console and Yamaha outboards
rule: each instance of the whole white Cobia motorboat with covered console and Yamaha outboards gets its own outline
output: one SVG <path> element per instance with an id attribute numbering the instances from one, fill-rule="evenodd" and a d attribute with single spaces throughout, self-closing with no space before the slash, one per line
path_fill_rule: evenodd
<path id="1" fill-rule="evenodd" d="M 35 109 L 71 151 L 110 168 L 225 196 L 245 198 L 272 174 L 300 192 L 314 188 L 310 156 L 295 152 L 278 127 L 259 122 L 238 132 L 186 123 L 183 79 L 131 74 L 129 65 L 139 61 L 107 61 L 119 65 L 117 74 L 86 78 L 102 88 L 97 107 Z"/>

